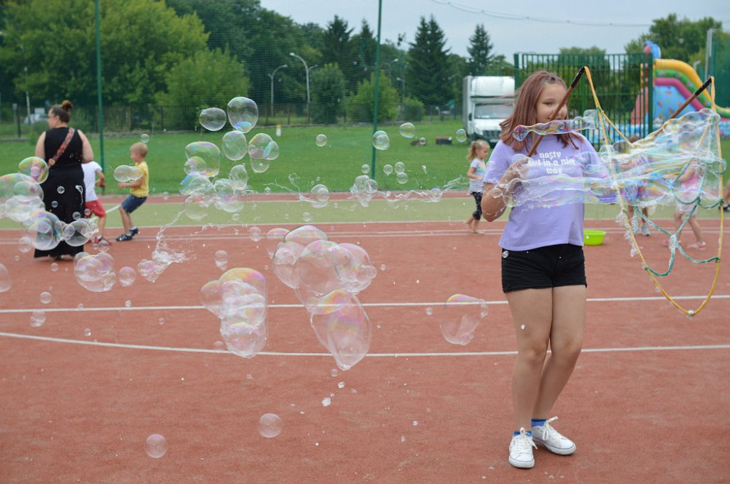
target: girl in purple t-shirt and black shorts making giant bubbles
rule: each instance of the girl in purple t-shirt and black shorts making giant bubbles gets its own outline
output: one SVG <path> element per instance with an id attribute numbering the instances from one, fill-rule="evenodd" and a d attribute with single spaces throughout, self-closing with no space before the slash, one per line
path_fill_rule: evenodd
<path id="1" fill-rule="evenodd" d="M 550 203 L 545 200 L 529 198 L 520 179 L 528 173 L 533 178 L 537 171 L 537 176 L 566 175 L 580 181 L 585 165 L 595 163 L 596 152 L 583 136 L 568 133 L 542 138 L 528 160 L 537 135 L 530 133 L 523 141 L 512 138 L 518 125 L 549 122 L 566 92 L 565 82 L 548 71 L 537 71 L 526 79 L 514 112 L 502 122 L 501 141 L 493 149 L 484 178 L 482 211 L 489 222 L 504 213 L 510 199 L 515 200 L 499 244 L 502 290 L 518 342 L 512 372 L 515 432 L 509 461 L 521 468 L 534 466 L 536 443 L 559 455 L 572 454 L 576 448 L 550 425 L 556 419 L 550 413 L 583 346 L 583 203 L 569 193 L 568 198 L 559 198 L 558 190 L 550 194 L 556 203 L 546 206 Z M 566 117 L 562 106 L 554 119 Z M 551 354 L 545 363 L 548 346 Z"/>

